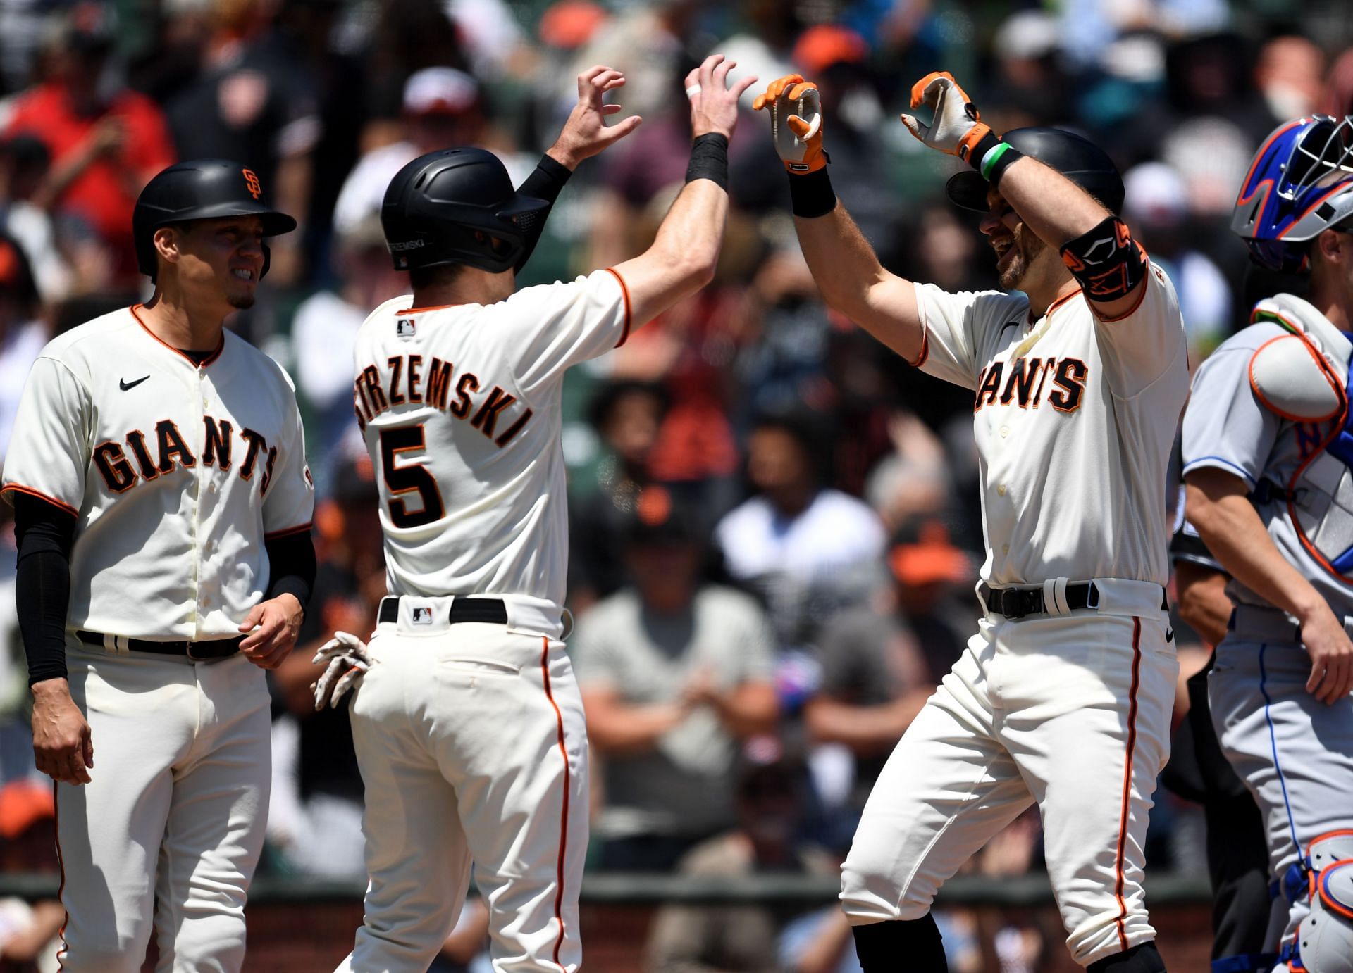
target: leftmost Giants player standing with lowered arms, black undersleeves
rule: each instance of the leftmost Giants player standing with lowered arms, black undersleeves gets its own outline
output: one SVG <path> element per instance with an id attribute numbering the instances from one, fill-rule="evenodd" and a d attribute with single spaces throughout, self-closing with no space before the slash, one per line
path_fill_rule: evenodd
<path id="1" fill-rule="evenodd" d="M 222 326 L 296 223 L 235 162 L 134 215 L 145 304 L 50 342 L 4 465 L 38 769 L 55 784 L 65 970 L 238 970 L 264 839 L 264 669 L 315 573 L 291 382 Z M 95 766 L 95 751 L 99 762 Z"/>

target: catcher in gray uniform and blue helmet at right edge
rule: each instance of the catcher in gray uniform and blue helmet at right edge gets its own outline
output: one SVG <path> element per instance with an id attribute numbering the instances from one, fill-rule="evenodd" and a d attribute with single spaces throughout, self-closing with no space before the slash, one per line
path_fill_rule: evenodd
<path id="1" fill-rule="evenodd" d="M 1264 815 L 1277 966 L 1353 970 L 1353 118 L 1280 126 L 1231 228 L 1310 276 L 1256 304 L 1199 368 L 1184 416 L 1189 522 L 1231 574 L 1208 700 Z"/>

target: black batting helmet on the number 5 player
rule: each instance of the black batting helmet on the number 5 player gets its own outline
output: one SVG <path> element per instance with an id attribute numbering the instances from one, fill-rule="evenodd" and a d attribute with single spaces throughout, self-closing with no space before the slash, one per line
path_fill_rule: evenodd
<path id="1" fill-rule="evenodd" d="M 380 224 L 395 270 L 468 264 L 502 273 L 517 265 L 530 222 L 548 205 L 520 196 L 491 151 L 442 149 L 395 174 Z"/>

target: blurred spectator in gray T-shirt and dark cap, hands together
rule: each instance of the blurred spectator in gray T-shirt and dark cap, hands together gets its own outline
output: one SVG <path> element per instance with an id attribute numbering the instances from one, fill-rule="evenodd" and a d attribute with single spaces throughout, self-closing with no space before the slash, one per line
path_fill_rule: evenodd
<path id="1" fill-rule="evenodd" d="M 667 870 L 731 827 L 739 741 L 779 715 L 766 616 L 701 580 L 704 547 L 687 511 L 644 491 L 625 545 L 633 584 L 579 616 L 570 643 L 603 776 L 601 869 Z"/>

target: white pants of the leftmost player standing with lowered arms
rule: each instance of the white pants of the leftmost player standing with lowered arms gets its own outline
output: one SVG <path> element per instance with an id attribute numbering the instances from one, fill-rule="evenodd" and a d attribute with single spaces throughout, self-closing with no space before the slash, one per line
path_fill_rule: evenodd
<path id="1" fill-rule="evenodd" d="M 93 770 L 55 789 L 62 969 L 138 973 L 153 924 L 160 973 L 239 970 L 272 764 L 262 670 L 73 639 L 66 665 Z"/>

